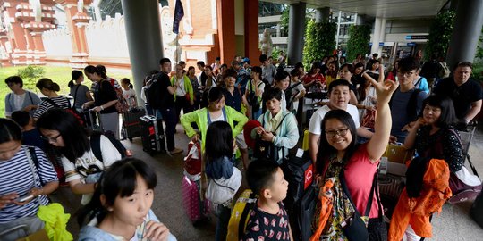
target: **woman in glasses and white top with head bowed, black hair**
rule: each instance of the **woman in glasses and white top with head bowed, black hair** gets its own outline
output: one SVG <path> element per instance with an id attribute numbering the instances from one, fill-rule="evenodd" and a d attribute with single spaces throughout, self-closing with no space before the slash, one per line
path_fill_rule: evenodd
<path id="1" fill-rule="evenodd" d="M 49 145 L 60 153 L 64 167 L 65 182 L 69 183 L 74 194 L 81 194 L 81 204 L 87 204 L 97 183 L 98 176 L 121 154 L 104 135 L 89 135 L 70 112 L 52 109 L 37 121 L 37 127 Z M 97 143 L 92 138 L 98 140 Z M 93 149 L 99 149 L 97 156 Z"/>

